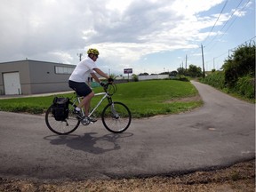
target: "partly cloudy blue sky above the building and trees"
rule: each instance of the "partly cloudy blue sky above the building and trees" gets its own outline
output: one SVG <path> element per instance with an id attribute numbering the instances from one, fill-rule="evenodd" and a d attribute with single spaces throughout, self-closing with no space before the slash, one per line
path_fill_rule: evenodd
<path id="1" fill-rule="evenodd" d="M 1 0 L 0 62 L 76 65 L 88 48 L 109 74 L 220 69 L 255 40 L 254 0 Z M 203 48 L 203 49 L 202 49 Z M 187 60 L 186 60 L 187 58 Z M 186 62 L 187 61 L 187 62 Z M 186 65 L 187 64 L 187 65 Z"/>

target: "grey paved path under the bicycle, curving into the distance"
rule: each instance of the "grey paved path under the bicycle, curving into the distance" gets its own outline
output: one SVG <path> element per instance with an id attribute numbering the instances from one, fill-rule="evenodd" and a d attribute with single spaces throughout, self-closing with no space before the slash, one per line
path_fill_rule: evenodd
<path id="1" fill-rule="evenodd" d="M 255 156 L 255 108 L 193 82 L 204 107 L 133 120 L 122 134 L 101 122 L 68 136 L 52 134 L 44 116 L 0 112 L 0 176 L 82 180 L 212 170 Z"/>

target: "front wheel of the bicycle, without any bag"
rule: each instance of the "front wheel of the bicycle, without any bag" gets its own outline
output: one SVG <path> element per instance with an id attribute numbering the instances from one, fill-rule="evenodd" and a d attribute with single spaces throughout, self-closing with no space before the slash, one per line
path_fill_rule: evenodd
<path id="1" fill-rule="evenodd" d="M 101 119 L 109 132 L 120 133 L 128 129 L 132 115 L 124 103 L 112 102 L 103 109 Z"/>

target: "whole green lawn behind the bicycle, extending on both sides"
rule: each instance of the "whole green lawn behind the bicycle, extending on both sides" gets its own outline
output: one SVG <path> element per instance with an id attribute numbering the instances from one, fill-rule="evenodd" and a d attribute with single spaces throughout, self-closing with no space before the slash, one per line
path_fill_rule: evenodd
<path id="1" fill-rule="evenodd" d="M 94 92 L 102 92 L 102 88 L 93 89 Z M 182 101 L 198 95 L 196 88 L 189 82 L 175 80 L 153 80 L 126 84 L 117 84 L 117 92 L 113 100 L 121 101 L 130 108 L 132 117 L 148 117 L 156 115 L 177 114 L 188 111 L 202 105 L 200 100 Z M 19 99 L 0 100 L 0 110 L 11 112 L 26 112 L 31 114 L 43 114 L 52 104 L 56 95 L 44 97 L 29 97 Z M 61 97 L 74 97 L 73 93 L 61 94 Z M 92 99 L 92 106 L 100 100 L 100 97 Z M 107 104 L 104 101 L 100 106 L 101 111 Z"/>

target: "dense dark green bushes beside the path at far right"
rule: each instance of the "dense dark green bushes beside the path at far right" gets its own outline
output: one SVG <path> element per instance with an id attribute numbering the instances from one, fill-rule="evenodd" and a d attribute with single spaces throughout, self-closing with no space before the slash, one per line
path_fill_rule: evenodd
<path id="1" fill-rule="evenodd" d="M 239 46 L 222 68 L 200 81 L 244 99 L 255 99 L 255 42 Z"/>

